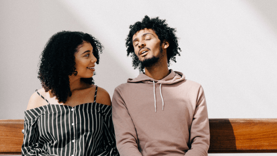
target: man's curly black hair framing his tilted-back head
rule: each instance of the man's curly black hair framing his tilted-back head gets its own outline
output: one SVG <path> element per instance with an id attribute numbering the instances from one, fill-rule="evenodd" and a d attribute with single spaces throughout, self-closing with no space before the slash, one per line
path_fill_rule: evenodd
<path id="1" fill-rule="evenodd" d="M 131 54 L 133 67 L 135 69 L 139 68 L 140 72 L 143 72 L 144 66 L 139 61 L 139 58 L 135 54 L 134 46 L 133 46 L 133 36 L 143 29 L 152 29 L 158 36 L 161 42 L 167 41 L 169 43 L 169 47 L 167 48 L 167 63 L 170 65 L 170 60 L 176 62 L 176 55 L 180 56 L 181 48 L 178 45 L 178 38 L 175 35 L 176 29 L 170 28 L 166 23 L 165 19 L 149 18 L 147 15 L 144 16 L 142 21 L 136 22 L 134 25 L 130 25 L 131 30 L 126 39 L 125 46 L 127 47 L 127 56 Z"/>

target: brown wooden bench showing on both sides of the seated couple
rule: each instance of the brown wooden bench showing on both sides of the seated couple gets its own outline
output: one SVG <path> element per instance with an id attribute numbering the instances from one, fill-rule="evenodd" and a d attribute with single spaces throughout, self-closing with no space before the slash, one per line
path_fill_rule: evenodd
<path id="1" fill-rule="evenodd" d="M 277 119 L 209 119 L 209 153 L 277 153 Z M 21 155 L 24 120 L 0 120 L 0 155 Z"/>

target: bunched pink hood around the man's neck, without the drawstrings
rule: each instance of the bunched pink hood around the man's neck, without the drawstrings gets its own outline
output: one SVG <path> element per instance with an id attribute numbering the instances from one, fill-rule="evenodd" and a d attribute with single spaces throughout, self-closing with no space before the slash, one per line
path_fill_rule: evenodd
<path id="1" fill-rule="evenodd" d="M 142 82 L 145 84 L 174 84 L 180 81 L 185 80 L 185 75 L 182 72 L 178 72 L 178 71 L 173 71 L 172 69 L 170 69 L 170 74 L 167 75 L 165 78 L 161 79 L 161 80 L 155 80 L 151 77 L 146 76 L 143 73 L 140 73 L 139 76 L 135 79 L 129 78 L 127 80 L 127 83 L 137 83 L 137 82 Z"/>

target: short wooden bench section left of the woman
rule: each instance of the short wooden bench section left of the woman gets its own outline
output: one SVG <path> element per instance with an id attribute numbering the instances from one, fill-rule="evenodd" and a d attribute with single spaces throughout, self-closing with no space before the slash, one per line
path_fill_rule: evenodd
<path id="1" fill-rule="evenodd" d="M 0 155 L 21 155 L 24 120 L 0 120 Z"/>

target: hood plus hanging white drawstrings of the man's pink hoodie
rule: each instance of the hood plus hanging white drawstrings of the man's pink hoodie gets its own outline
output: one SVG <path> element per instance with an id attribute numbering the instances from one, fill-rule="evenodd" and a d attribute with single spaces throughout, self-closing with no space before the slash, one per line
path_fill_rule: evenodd
<path id="1" fill-rule="evenodd" d="M 138 83 L 142 82 L 145 84 L 153 84 L 153 98 L 154 98 L 154 106 L 155 106 L 155 112 L 157 112 L 157 104 L 156 104 L 156 94 L 155 94 L 155 84 L 160 84 L 160 96 L 161 96 L 161 101 L 162 101 L 162 110 L 164 110 L 164 100 L 163 100 L 163 95 L 162 95 L 162 84 L 174 84 L 180 81 L 185 80 L 185 75 L 181 72 L 178 71 L 173 71 L 170 69 L 169 75 L 167 75 L 165 78 L 161 80 L 155 80 L 153 78 L 150 78 L 146 76 L 143 73 L 140 73 L 139 76 L 135 79 L 128 79 L 127 83 Z"/>

